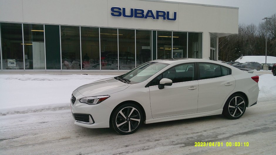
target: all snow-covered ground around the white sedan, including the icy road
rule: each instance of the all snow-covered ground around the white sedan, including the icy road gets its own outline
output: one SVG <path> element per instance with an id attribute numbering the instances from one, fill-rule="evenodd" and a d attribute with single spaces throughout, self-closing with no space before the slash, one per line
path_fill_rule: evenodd
<path id="1" fill-rule="evenodd" d="M 264 74 L 258 103 L 240 119 L 215 115 L 144 124 L 124 136 L 75 125 L 69 108 L 76 87 L 114 75 L 0 75 L 0 154 L 275 154 L 276 76 L 256 73 Z M 249 146 L 234 147 L 236 142 Z"/>

